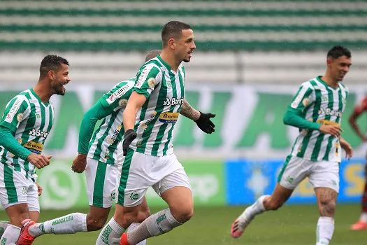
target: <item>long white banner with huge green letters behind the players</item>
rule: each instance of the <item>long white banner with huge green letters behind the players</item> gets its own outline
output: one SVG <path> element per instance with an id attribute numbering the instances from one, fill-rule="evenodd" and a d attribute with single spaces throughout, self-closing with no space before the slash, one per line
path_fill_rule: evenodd
<path id="1" fill-rule="evenodd" d="M 106 85 L 104 85 L 106 86 Z M 45 144 L 45 153 L 73 158 L 78 146 L 78 130 L 82 116 L 99 97 L 112 87 L 96 89 L 91 86 L 68 85 L 64 97 L 54 95 L 55 123 Z M 185 99 L 201 111 L 210 111 L 216 125 L 214 134 L 203 134 L 192 122 L 180 116 L 174 132 L 175 153 L 192 159 L 233 157 L 283 158 L 298 134 L 294 127 L 285 126 L 282 117 L 298 85 L 261 86 L 191 86 Z M 367 91 L 367 86 L 350 86 L 343 114 L 343 137 L 350 141 L 356 155 L 364 156 L 359 138 L 347 123 L 354 104 Z M 0 106 L 20 91 L 0 87 Z M 358 123 L 364 129 L 366 117 Z"/>

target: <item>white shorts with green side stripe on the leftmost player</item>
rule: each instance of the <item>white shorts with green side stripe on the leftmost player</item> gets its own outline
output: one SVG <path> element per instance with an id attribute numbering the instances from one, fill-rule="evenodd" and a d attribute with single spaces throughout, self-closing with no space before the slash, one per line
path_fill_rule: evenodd
<path id="1" fill-rule="evenodd" d="M 16 204 L 28 204 L 29 211 L 40 211 L 38 188 L 12 165 L 0 163 L 0 202 L 3 209 Z"/>

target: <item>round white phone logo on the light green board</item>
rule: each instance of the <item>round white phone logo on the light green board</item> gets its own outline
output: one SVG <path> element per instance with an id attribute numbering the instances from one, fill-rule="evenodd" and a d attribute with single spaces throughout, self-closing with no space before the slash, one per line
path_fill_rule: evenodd
<path id="1" fill-rule="evenodd" d="M 70 184 L 62 186 L 62 179 Z M 77 204 L 80 195 L 84 194 L 81 192 L 79 176 L 71 172 L 69 165 L 62 161 L 53 161 L 52 165 L 43 169 L 38 183 L 43 187 L 40 197 L 42 209 L 70 209 Z"/>

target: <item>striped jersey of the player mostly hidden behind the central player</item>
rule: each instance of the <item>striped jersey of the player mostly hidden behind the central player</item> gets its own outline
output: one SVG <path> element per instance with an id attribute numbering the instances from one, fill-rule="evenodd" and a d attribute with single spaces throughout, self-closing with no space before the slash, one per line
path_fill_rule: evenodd
<path id="1" fill-rule="evenodd" d="M 127 105 L 135 84 L 135 78 L 117 83 L 112 90 L 103 94 L 99 102 L 110 115 L 103 119 L 101 125 L 94 132 L 89 142 L 88 158 L 115 164 L 117 158 L 117 144 L 124 136 L 124 125 L 122 125 L 122 113 Z"/>

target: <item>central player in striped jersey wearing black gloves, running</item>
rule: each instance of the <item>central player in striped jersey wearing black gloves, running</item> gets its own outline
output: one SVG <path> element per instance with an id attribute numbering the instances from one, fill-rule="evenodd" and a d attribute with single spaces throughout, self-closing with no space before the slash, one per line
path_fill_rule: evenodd
<path id="1" fill-rule="evenodd" d="M 139 69 L 134 92 L 123 114 L 124 156 L 117 156 L 123 164 L 119 169 L 115 216 L 110 223 L 126 230 L 136 220 L 150 186 L 169 208 L 152 214 L 137 228 L 125 232 L 120 240 L 124 245 L 138 244 L 169 232 L 193 215 L 189 179 L 173 153 L 173 128 L 179 113 L 196 121 L 204 132 L 214 132 L 210 122 L 214 115 L 193 110 L 184 99 L 186 73 L 182 61 L 189 62 L 196 48 L 192 28 L 171 21 L 164 25 L 161 38 L 161 55 Z M 105 230 L 106 227 L 101 234 Z"/>

